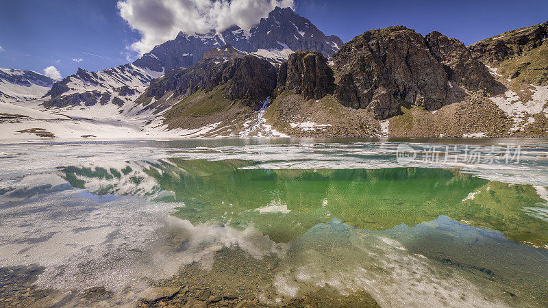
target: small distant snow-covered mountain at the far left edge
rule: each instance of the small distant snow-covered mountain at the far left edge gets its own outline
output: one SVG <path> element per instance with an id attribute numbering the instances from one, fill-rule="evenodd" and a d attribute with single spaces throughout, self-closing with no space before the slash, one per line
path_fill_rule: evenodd
<path id="1" fill-rule="evenodd" d="M 0 102 L 38 99 L 55 81 L 32 70 L 0 68 Z"/>

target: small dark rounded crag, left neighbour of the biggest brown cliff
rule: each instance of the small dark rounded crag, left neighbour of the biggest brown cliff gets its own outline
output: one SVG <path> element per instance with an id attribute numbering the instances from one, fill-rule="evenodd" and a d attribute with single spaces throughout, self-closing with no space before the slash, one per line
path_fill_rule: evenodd
<path id="1" fill-rule="evenodd" d="M 333 70 L 321 53 L 299 51 L 279 67 L 276 92 L 291 90 L 306 100 L 321 99 L 333 93 L 334 81 Z"/>

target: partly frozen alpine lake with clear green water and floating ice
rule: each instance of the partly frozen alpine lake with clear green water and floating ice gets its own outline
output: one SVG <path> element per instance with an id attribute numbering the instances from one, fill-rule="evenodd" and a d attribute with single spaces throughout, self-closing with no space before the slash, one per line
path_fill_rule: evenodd
<path id="1" fill-rule="evenodd" d="M 381 306 L 547 305 L 548 143 L 401 141 L 457 159 L 402 165 L 399 140 L 5 144 L 0 267 L 42 267 L 41 288 L 131 284 L 114 305 L 192 264 L 238 286 L 219 264 L 258 269 L 228 248 L 269 263 L 254 292 L 270 305 L 317 287 Z M 507 144 L 519 162 L 464 159 Z"/>

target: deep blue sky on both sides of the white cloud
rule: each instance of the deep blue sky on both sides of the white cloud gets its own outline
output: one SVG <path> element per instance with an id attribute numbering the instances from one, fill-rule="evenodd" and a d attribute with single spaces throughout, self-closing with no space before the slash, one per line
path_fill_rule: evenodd
<path id="1" fill-rule="evenodd" d="M 141 36 L 120 16 L 116 3 L 0 0 L 0 67 L 43 73 L 55 66 L 65 77 L 78 67 L 100 70 L 127 63 L 128 57 L 136 57 L 127 47 Z M 405 25 L 422 34 L 438 30 L 472 44 L 548 21 L 547 0 L 295 0 L 295 8 L 325 34 L 344 42 L 368 29 Z"/>

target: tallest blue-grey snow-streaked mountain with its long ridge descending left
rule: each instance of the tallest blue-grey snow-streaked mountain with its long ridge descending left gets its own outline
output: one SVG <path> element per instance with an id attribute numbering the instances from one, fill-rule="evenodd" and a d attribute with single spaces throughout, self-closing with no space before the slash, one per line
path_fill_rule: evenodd
<path id="1" fill-rule="evenodd" d="M 170 70 L 196 64 L 207 51 L 222 47 L 225 42 L 231 42 L 227 46 L 236 47 L 242 54 L 253 54 L 275 63 L 285 61 L 293 49 L 314 49 L 329 56 L 343 44 L 335 36 L 325 36 L 290 8 L 275 8 L 268 18 L 262 18 L 249 31 L 234 26 L 222 34 L 188 36 L 180 33 L 175 40 L 155 47 L 134 64 L 99 72 L 79 68 L 76 74 L 53 85 L 45 94 L 47 101 L 43 106 L 133 103 L 152 79 Z M 260 104 L 256 106 L 259 107 Z"/>

